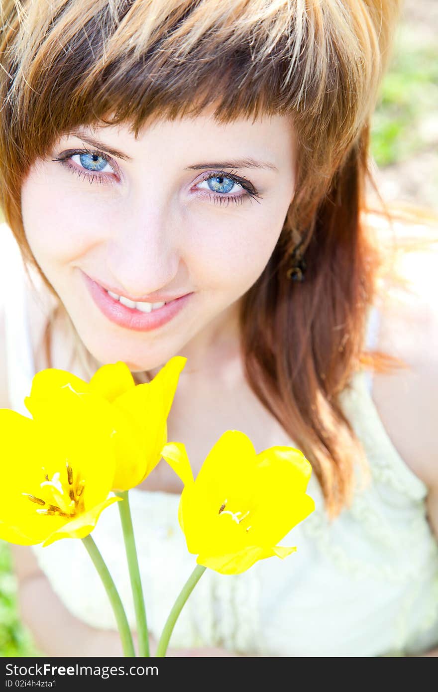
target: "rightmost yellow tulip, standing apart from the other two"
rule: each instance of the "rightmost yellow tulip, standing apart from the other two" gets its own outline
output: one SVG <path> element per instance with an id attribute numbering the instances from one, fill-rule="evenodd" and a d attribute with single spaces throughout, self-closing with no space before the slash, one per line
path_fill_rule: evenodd
<path id="1" fill-rule="evenodd" d="M 295 552 L 277 542 L 315 509 L 306 495 L 311 465 L 300 450 L 277 446 L 256 454 L 243 432 L 228 430 L 196 480 L 183 444 L 166 444 L 161 454 L 184 483 L 179 523 L 199 565 L 240 574 L 258 560 Z"/>

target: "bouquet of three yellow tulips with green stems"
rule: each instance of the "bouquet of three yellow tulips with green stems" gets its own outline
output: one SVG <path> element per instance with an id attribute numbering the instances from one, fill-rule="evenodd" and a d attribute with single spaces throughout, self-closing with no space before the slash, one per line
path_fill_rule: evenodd
<path id="1" fill-rule="evenodd" d="M 239 574 L 258 560 L 285 558 L 277 545 L 314 509 L 306 494 L 311 466 L 300 450 L 256 454 L 238 430 L 223 433 L 196 480 L 183 444 L 167 442 L 167 417 L 186 358 L 175 356 L 149 383 L 136 385 L 125 363 L 104 365 L 89 383 L 48 368 L 33 378 L 24 403 L 30 417 L 0 410 L 5 462 L 0 483 L 0 538 L 48 546 L 79 538 L 89 552 L 116 617 L 124 655 L 136 656 L 125 610 L 91 537 L 100 513 L 118 503 L 131 579 L 138 655 L 149 656 L 145 599 L 138 570 L 129 489 L 163 457 L 181 478 L 179 525 L 197 555 L 158 641 L 165 656 L 176 619 L 206 568 Z"/>

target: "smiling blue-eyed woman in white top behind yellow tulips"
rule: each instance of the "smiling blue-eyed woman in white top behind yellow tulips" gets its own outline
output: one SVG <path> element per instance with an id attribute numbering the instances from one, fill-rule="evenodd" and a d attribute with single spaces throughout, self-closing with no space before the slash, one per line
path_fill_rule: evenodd
<path id="1" fill-rule="evenodd" d="M 421 284 L 434 272 L 422 257 L 417 299 L 394 307 L 379 282 L 384 237 L 363 215 L 398 6 L 4 3 L 3 233 L 33 272 L 30 334 L 5 306 L 4 405 L 20 410 L 44 367 L 87 379 L 125 361 L 141 382 L 179 354 L 168 439 L 184 442 L 195 472 L 229 428 L 257 450 L 298 447 L 313 466 L 316 511 L 294 529 L 297 559 L 206 573 L 174 655 L 438 655 L 435 388 L 430 355 L 400 333 L 417 320 L 436 335 Z M 30 346 L 27 374 L 17 343 Z M 394 359 L 372 359 L 374 346 L 414 366 L 376 377 L 383 419 L 361 366 Z M 180 492 L 163 463 L 131 491 L 153 638 L 194 562 Z M 93 535 L 129 611 L 111 509 Z M 120 653 L 83 552 L 75 541 L 15 549 L 23 617 L 48 655 Z"/>

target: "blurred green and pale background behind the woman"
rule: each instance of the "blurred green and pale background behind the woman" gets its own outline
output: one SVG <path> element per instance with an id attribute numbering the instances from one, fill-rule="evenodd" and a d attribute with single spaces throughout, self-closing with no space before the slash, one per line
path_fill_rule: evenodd
<path id="1" fill-rule="evenodd" d="M 405 0 L 372 128 L 383 199 L 438 212 L 438 0 Z M 37 656 L 21 626 L 8 545 L 0 541 L 0 656 Z"/>

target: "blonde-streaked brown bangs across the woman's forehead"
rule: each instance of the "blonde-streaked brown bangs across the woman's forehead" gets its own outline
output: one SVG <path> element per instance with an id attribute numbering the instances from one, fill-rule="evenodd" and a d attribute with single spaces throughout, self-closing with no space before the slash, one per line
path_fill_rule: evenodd
<path id="1" fill-rule="evenodd" d="M 80 125 L 130 122 L 137 136 L 146 122 L 210 105 L 223 123 L 305 112 L 318 127 L 348 128 L 345 92 L 364 69 L 345 53 L 357 43 L 345 3 L 325 4 L 336 5 L 332 35 L 328 10 L 300 0 L 20 4 L 9 30 L 10 136 L 31 162 Z"/>

